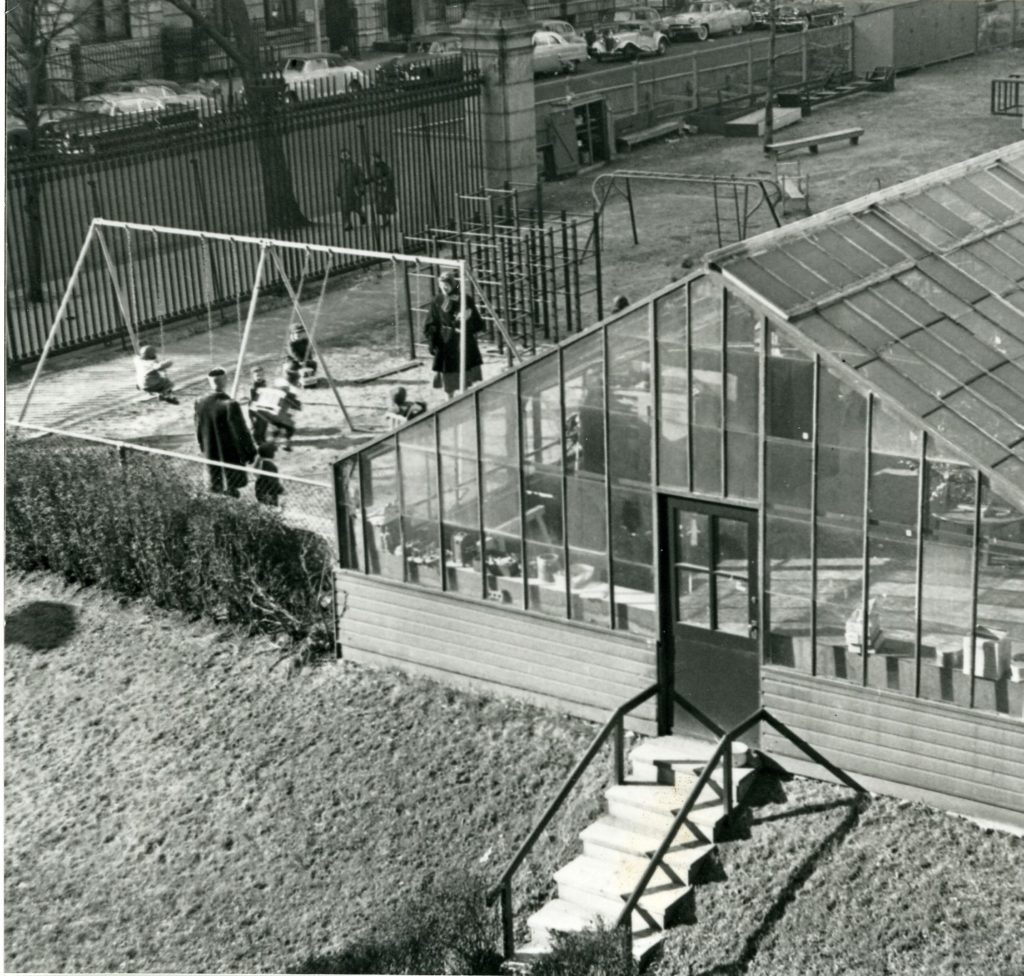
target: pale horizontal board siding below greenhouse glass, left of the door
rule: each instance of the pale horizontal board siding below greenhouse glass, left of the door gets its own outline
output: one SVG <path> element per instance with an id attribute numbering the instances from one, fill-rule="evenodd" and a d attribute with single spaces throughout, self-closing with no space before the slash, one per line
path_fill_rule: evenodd
<path id="1" fill-rule="evenodd" d="M 656 680 L 651 640 L 339 570 L 338 641 L 350 661 L 391 666 L 604 721 Z M 654 732 L 651 698 L 628 724 Z"/>

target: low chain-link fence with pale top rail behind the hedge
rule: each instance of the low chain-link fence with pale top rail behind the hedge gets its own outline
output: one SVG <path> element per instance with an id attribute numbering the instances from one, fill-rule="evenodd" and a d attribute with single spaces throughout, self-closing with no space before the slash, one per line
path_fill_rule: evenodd
<path id="1" fill-rule="evenodd" d="M 157 465 L 166 474 L 169 484 L 184 483 L 196 493 L 215 491 L 237 497 L 243 505 L 274 508 L 289 524 L 322 536 L 337 556 L 334 490 L 330 480 L 294 477 L 265 467 L 220 464 L 130 441 L 35 424 L 9 422 L 7 434 L 20 438 L 23 442 L 29 441 L 39 450 L 53 451 L 66 457 L 83 451 L 106 452 L 111 464 L 127 468 Z"/>

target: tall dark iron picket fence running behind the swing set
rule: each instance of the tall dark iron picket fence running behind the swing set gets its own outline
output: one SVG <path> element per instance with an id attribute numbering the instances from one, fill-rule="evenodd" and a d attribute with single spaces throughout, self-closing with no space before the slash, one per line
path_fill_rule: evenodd
<path id="1" fill-rule="evenodd" d="M 434 80 L 366 77 L 360 90 L 310 89 L 260 115 L 214 100 L 113 125 L 76 120 L 74 141 L 41 136 L 7 170 L 8 364 L 41 352 L 93 217 L 376 251 L 398 251 L 403 235 L 452 223 L 460 195 L 482 182 L 481 84 L 469 55 L 456 54 L 436 62 Z M 360 211 L 342 210 L 343 150 L 359 170 L 348 182 L 359 187 Z M 381 164 L 390 203 L 370 179 Z M 238 267 L 229 248 L 168 253 L 136 241 L 112 250 L 119 271 L 148 296 L 139 303 L 140 332 L 197 315 L 216 325 L 251 288 L 252 268 Z M 301 255 L 289 261 L 294 284 Z M 140 275 L 146 262 L 151 273 Z M 359 263 L 339 262 L 328 273 Z M 54 352 L 124 341 L 108 277 L 98 256 L 86 262 Z"/>

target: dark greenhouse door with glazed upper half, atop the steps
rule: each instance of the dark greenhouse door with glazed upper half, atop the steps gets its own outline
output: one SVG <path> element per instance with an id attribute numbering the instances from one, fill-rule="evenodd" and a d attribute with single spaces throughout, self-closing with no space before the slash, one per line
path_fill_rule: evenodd
<path id="1" fill-rule="evenodd" d="M 663 619 L 675 689 L 727 730 L 760 704 L 758 513 L 667 496 L 663 506 Z M 711 735 L 678 705 L 673 728 Z"/>

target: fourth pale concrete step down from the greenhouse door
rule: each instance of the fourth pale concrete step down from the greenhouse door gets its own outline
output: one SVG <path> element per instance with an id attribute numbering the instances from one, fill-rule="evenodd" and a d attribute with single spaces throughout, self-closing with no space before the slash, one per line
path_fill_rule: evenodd
<path id="1" fill-rule="evenodd" d="M 558 897 L 614 920 L 640 881 L 644 866 L 628 857 L 617 863 L 586 854 L 575 857 L 555 873 Z M 693 889 L 660 868 L 637 905 L 638 914 L 659 929 L 678 924 L 692 909 Z"/>

